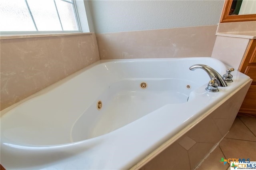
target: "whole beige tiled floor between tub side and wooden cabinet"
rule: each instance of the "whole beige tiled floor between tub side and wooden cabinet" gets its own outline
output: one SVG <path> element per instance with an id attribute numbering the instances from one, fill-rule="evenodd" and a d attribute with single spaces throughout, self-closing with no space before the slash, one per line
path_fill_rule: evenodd
<path id="1" fill-rule="evenodd" d="M 239 115 L 228 134 L 196 170 L 229 170 L 221 158 L 250 158 L 256 161 L 256 117 Z"/>

